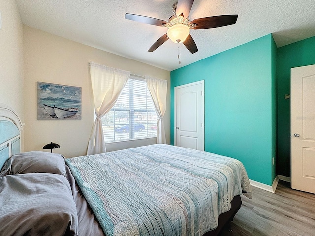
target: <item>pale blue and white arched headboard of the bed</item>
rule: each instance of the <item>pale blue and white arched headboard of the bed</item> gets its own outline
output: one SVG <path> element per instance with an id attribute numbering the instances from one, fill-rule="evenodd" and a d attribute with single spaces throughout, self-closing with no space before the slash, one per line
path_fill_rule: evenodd
<path id="1" fill-rule="evenodd" d="M 24 124 L 17 113 L 0 104 L 0 169 L 12 155 L 21 152 L 21 131 Z"/>

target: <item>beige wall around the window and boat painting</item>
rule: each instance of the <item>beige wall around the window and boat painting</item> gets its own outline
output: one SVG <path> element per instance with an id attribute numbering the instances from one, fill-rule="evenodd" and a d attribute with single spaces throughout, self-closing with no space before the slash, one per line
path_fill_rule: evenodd
<path id="1" fill-rule="evenodd" d="M 56 142 L 55 152 L 65 157 L 85 155 L 94 122 L 94 103 L 89 65 L 98 64 L 168 80 L 165 131 L 170 143 L 170 72 L 135 60 L 85 46 L 68 39 L 24 26 L 24 111 L 25 151 L 42 150 Z M 37 120 L 37 82 L 82 87 L 81 120 Z M 141 142 L 141 141 L 140 141 Z M 143 142 L 152 143 L 152 140 Z M 139 141 L 107 145 L 108 150 L 130 148 Z"/>

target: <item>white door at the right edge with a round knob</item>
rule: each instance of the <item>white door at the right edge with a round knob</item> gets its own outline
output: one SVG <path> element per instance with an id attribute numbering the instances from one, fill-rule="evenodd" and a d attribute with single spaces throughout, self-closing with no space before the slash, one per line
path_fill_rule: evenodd
<path id="1" fill-rule="evenodd" d="M 291 187 L 315 193 L 315 65 L 291 69 Z"/>

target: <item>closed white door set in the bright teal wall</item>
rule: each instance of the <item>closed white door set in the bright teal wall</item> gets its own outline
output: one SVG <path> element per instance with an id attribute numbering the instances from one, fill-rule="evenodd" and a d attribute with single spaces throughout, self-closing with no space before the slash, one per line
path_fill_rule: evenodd
<path id="1" fill-rule="evenodd" d="M 204 81 L 174 88 L 174 143 L 204 151 Z"/>

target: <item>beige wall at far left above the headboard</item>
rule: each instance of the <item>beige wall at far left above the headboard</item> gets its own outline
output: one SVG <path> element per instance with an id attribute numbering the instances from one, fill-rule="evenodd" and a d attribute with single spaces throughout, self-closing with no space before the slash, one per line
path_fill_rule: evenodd
<path id="1" fill-rule="evenodd" d="M 15 1 L 0 0 L 0 103 L 11 107 L 24 121 L 23 24 Z M 23 150 L 23 132 L 22 132 Z"/>

